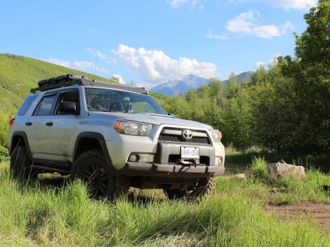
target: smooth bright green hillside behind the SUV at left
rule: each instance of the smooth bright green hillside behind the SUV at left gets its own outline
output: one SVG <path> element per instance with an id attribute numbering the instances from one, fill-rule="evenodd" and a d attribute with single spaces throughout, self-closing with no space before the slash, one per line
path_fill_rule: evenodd
<path id="1" fill-rule="evenodd" d="M 107 80 L 34 58 L 0 54 L 0 145 L 7 141 L 8 121 L 13 117 L 30 89 L 45 78 L 73 73 L 90 79 Z"/>

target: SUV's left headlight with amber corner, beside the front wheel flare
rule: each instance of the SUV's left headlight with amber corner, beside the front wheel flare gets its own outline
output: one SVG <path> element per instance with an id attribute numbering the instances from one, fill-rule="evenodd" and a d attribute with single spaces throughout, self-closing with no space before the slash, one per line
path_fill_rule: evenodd
<path id="1" fill-rule="evenodd" d="M 153 125 L 135 121 L 115 121 L 113 128 L 120 132 L 120 134 L 146 137 L 153 128 Z"/>

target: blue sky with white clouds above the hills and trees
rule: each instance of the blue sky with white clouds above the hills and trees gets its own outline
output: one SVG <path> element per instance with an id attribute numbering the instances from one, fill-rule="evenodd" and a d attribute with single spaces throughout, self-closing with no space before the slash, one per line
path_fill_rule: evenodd
<path id="1" fill-rule="evenodd" d="M 293 55 L 316 0 L 3 1 L 0 52 L 148 87 Z M 97 58 L 97 59 L 96 59 Z"/>

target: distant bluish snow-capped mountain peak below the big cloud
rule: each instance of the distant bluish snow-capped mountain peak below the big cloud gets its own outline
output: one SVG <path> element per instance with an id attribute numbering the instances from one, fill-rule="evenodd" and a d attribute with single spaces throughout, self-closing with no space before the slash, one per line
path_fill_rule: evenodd
<path id="1" fill-rule="evenodd" d="M 150 91 L 170 96 L 179 95 L 180 93 L 187 93 L 189 89 L 198 89 L 201 85 L 208 84 L 208 81 L 208 79 L 196 75 L 187 75 L 181 80 L 171 80 L 154 86 Z"/>

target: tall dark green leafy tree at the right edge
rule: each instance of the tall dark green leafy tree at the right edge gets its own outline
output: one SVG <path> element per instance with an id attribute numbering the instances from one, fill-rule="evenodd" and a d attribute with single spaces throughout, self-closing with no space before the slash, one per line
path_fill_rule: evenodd
<path id="1" fill-rule="evenodd" d="M 296 57 L 279 59 L 295 100 L 291 113 L 296 129 L 289 132 L 292 149 L 330 150 L 330 3 L 320 0 L 305 14 L 307 30 L 296 34 Z"/>

